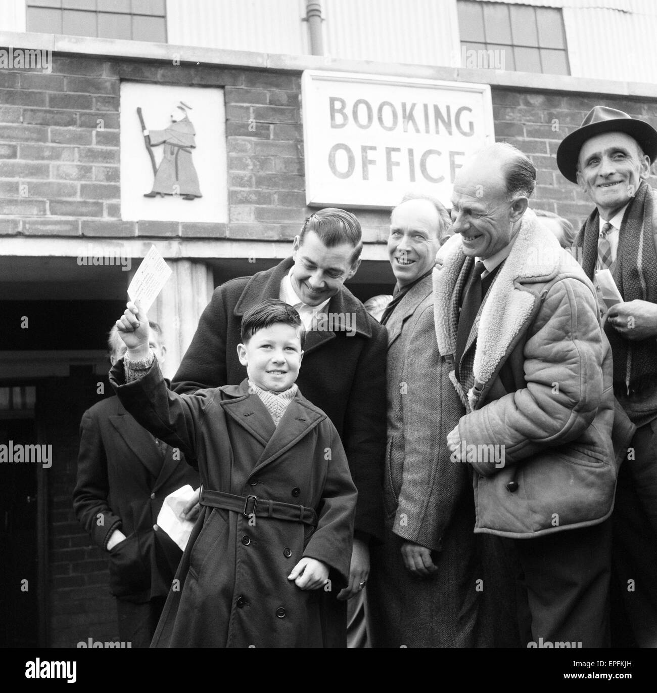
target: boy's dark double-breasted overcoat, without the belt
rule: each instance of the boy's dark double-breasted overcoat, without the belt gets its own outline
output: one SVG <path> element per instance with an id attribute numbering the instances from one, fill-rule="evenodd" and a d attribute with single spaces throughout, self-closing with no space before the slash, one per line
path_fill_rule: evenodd
<path id="1" fill-rule="evenodd" d="M 110 379 L 142 426 L 198 466 L 204 489 L 303 505 L 318 516 L 313 532 L 203 507 L 152 647 L 336 644 L 345 624 L 335 597 L 348 580 L 357 492 L 327 416 L 298 393 L 276 427 L 246 380 L 179 396 L 156 364 L 122 385 L 120 361 Z M 287 579 L 302 556 L 330 565 L 330 592 Z"/>

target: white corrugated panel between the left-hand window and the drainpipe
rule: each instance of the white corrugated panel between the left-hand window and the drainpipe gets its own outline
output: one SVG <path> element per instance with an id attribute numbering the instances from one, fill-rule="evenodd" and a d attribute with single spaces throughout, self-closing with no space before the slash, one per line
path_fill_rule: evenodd
<path id="1" fill-rule="evenodd" d="M 305 53 L 303 0 L 167 0 L 170 44 Z"/>

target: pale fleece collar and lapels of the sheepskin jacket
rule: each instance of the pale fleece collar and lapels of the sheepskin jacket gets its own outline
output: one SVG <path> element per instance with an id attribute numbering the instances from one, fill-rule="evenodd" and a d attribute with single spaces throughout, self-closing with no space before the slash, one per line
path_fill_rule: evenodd
<path id="1" fill-rule="evenodd" d="M 455 234 L 438 252 L 433 271 L 435 335 L 441 356 L 449 362 L 453 362 L 456 352 L 458 300 L 455 289 L 465 261 L 461 236 Z M 534 212 L 528 209 L 512 250 L 479 308 L 467 341 L 466 350 L 476 339 L 475 386 L 467 396 L 454 372 L 450 374 L 465 404 L 474 407 L 477 400 L 474 389 L 481 392 L 532 316 L 538 297 L 526 285 L 554 279 L 568 262 L 575 263 L 573 256 L 559 246 L 555 236 L 543 229 Z"/>

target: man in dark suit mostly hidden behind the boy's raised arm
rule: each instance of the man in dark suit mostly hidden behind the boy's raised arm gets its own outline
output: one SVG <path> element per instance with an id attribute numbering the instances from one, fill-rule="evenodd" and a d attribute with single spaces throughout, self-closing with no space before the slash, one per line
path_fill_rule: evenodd
<path id="1" fill-rule="evenodd" d="M 154 322 L 150 328 L 150 347 L 162 362 L 161 328 Z M 114 365 L 125 352 L 116 326 L 109 333 L 109 349 Z M 109 552 L 118 633 L 132 647 L 150 645 L 182 556 L 156 521 L 165 497 L 186 484 L 196 489 L 198 473 L 179 450 L 141 428 L 118 397 L 84 412 L 73 507 L 89 536 Z M 198 509 L 188 504 L 186 517 L 193 520 Z"/>

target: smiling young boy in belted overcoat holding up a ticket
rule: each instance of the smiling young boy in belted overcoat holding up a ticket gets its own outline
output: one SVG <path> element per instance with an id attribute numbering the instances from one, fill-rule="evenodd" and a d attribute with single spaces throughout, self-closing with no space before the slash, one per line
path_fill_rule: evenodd
<path id="1" fill-rule="evenodd" d="M 330 419 L 294 384 L 305 331 L 269 299 L 242 319 L 248 378 L 178 395 L 127 304 L 128 347 L 110 382 L 125 408 L 201 476 L 201 513 L 152 647 L 323 647 L 345 624 L 332 600 L 349 577 L 357 491 Z"/>

